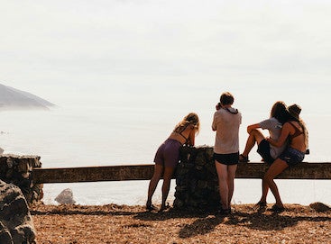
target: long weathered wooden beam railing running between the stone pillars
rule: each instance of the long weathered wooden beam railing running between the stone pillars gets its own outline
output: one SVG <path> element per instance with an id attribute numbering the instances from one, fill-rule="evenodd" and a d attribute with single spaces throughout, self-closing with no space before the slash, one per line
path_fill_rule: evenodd
<path id="1" fill-rule="evenodd" d="M 236 178 L 262 178 L 268 166 L 263 163 L 239 164 Z M 74 183 L 96 181 L 149 180 L 153 165 L 124 165 L 104 167 L 34 168 L 34 183 Z M 331 179 L 331 163 L 301 163 L 289 167 L 280 179 Z"/>

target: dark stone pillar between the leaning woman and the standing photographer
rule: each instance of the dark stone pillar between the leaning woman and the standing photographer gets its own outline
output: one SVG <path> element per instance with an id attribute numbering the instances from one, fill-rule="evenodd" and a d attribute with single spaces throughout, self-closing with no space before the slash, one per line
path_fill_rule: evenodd
<path id="1" fill-rule="evenodd" d="M 213 148 L 180 149 L 173 206 L 177 209 L 193 211 L 214 211 L 220 207 Z"/>

